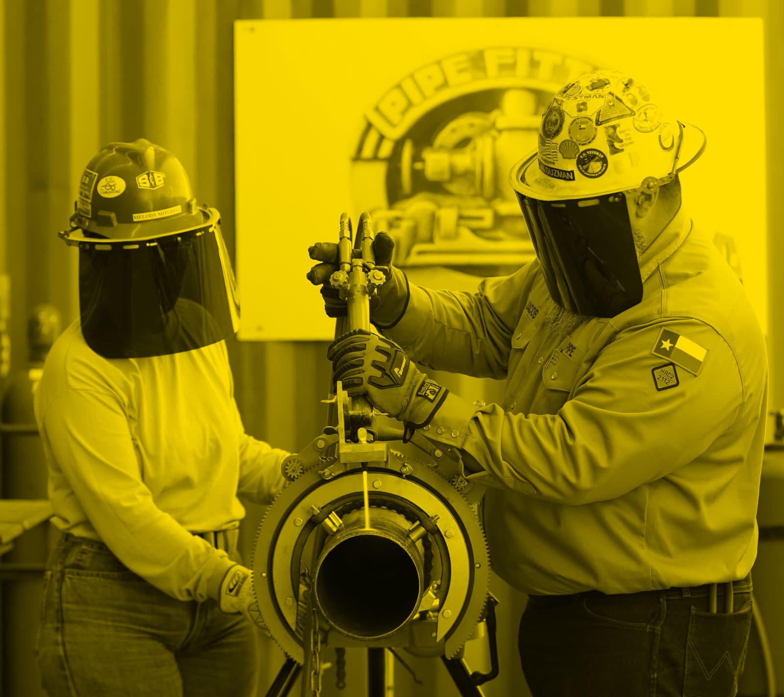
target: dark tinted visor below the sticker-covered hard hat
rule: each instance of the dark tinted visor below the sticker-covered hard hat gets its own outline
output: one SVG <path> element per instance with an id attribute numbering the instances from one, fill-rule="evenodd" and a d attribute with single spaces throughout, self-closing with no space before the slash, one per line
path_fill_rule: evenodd
<path id="1" fill-rule="evenodd" d="M 556 201 L 515 193 L 558 305 L 613 317 L 641 301 L 642 278 L 622 193 Z"/>

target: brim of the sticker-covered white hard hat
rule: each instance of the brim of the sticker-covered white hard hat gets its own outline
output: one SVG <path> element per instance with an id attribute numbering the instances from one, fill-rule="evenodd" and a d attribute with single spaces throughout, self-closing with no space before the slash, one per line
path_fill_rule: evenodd
<path id="1" fill-rule="evenodd" d="M 684 123 L 683 140 L 678 151 L 675 173 L 678 174 L 695 162 L 702 155 L 707 144 L 707 138 L 702 129 L 693 124 Z M 534 150 L 523 157 L 509 173 L 509 183 L 512 188 L 523 196 L 539 200 L 564 200 L 594 196 L 604 196 L 617 191 L 636 189 L 641 182 L 629 182 L 629 186 L 622 189 L 612 188 L 606 191 L 592 191 L 586 193 L 581 182 L 566 182 L 547 176 L 539 168 L 539 151 Z"/>

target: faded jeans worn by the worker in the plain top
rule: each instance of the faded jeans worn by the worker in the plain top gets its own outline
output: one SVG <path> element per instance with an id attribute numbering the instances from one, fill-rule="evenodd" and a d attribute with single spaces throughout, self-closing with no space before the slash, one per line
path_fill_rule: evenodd
<path id="1" fill-rule="evenodd" d="M 35 654 L 50 697 L 256 694 L 245 616 L 171 598 L 84 538 L 64 535 L 46 566 Z"/>

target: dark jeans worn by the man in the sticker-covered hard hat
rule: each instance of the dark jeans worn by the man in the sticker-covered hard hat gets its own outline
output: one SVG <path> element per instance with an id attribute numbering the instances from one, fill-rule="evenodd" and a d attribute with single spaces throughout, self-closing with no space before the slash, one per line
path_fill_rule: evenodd
<path id="1" fill-rule="evenodd" d="M 708 587 L 531 596 L 518 648 L 533 697 L 733 697 L 746 660 L 751 577 L 725 612 Z"/>

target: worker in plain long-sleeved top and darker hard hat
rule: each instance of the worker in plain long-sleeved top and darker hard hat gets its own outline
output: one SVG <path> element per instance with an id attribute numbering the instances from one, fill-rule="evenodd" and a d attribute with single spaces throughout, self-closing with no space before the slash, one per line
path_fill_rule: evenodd
<path id="1" fill-rule="evenodd" d="M 239 306 L 220 215 L 167 150 L 110 143 L 61 237 L 78 248 L 80 317 L 35 393 L 63 533 L 45 572 L 44 687 L 255 695 L 263 621 L 237 551 L 238 493 L 268 503 L 289 453 L 247 435 L 234 402 L 224 340 Z"/>

